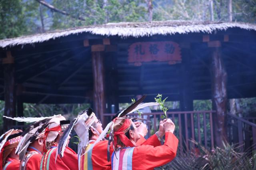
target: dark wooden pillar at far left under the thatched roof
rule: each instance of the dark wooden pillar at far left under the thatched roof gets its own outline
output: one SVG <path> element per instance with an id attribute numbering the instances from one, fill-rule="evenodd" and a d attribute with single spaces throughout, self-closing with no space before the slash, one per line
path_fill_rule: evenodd
<path id="1" fill-rule="evenodd" d="M 6 51 L 6 58 L 2 60 L 4 68 L 4 115 L 8 117 L 16 116 L 15 105 L 15 79 L 14 79 L 14 58 L 11 51 Z M 9 130 L 14 125 L 14 121 L 4 118 L 4 131 Z"/>

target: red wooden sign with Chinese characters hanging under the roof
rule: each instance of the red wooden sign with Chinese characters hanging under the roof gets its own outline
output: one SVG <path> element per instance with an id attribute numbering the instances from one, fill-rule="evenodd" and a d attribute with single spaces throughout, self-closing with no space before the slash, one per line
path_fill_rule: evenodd
<path id="1" fill-rule="evenodd" d="M 169 64 L 181 62 L 180 47 L 175 42 L 137 42 L 128 49 L 128 62 L 141 65 L 142 62 L 167 61 Z"/>

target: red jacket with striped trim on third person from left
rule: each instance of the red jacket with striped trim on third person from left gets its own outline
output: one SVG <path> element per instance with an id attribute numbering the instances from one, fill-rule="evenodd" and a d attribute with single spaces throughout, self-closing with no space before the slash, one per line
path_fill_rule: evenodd
<path id="1" fill-rule="evenodd" d="M 40 170 L 78 170 L 78 156 L 74 150 L 69 147 L 65 148 L 64 156 L 60 158 L 56 153 L 57 147 L 50 148 L 43 154 L 40 161 Z"/>

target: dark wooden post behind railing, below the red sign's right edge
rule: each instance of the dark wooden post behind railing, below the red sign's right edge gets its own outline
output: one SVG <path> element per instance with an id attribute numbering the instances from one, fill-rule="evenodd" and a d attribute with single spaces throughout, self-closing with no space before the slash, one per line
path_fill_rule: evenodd
<path id="1" fill-rule="evenodd" d="M 180 44 L 182 53 L 181 77 L 180 77 L 180 110 L 193 111 L 192 75 L 191 75 L 191 53 L 190 44 Z M 184 145 L 189 149 L 189 140 L 192 137 L 191 116 L 182 115 L 182 136 Z"/>

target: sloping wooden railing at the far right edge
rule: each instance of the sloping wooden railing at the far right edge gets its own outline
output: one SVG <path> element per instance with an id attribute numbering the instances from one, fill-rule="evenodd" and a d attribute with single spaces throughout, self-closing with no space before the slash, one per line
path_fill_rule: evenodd
<path id="1" fill-rule="evenodd" d="M 228 113 L 228 140 L 242 152 L 256 149 L 256 124 Z"/>

